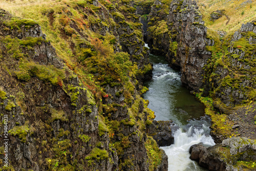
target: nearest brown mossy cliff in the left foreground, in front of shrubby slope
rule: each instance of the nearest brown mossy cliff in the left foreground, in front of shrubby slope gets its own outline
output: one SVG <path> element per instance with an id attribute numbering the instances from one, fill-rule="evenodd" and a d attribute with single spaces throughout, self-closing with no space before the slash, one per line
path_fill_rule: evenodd
<path id="1" fill-rule="evenodd" d="M 9 121 L 9 168 L 89 169 L 86 155 L 95 169 L 118 168 L 110 138 L 98 136 L 98 107 L 90 91 L 60 62 L 38 24 L 1 12 L 0 109 Z"/>

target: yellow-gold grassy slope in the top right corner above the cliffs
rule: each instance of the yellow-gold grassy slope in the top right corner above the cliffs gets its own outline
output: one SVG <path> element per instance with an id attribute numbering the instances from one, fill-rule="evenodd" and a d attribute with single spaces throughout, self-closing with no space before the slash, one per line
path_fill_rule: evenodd
<path id="1" fill-rule="evenodd" d="M 242 24 L 256 19 L 256 2 L 248 0 L 199 0 L 197 1 L 203 20 L 207 28 L 215 31 L 225 31 L 232 34 Z M 224 10 L 223 15 L 215 20 L 210 20 L 210 14 L 217 10 Z"/>

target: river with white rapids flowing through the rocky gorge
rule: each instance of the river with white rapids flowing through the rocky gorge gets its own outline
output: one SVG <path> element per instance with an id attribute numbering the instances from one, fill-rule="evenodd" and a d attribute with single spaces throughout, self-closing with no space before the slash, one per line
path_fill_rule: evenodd
<path id="1" fill-rule="evenodd" d="M 204 115 L 204 105 L 181 86 L 180 73 L 168 67 L 163 56 L 150 54 L 150 61 L 153 79 L 144 83 L 149 90 L 143 98 L 150 101 L 148 108 L 155 112 L 155 120 L 173 120 L 179 126 L 173 132 L 174 144 L 161 147 L 168 156 L 168 171 L 206 170 L 190 160 L 188 153 L 191 145 L 215 144 L 209 135 L 210 119 Z"/>

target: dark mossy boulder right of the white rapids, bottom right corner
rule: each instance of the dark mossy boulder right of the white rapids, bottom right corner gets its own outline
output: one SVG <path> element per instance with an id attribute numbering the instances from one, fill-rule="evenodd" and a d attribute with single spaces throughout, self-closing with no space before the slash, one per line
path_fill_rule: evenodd
<path id="1" fill-rule="evenodd" d="M 247 162 L 251 169 L 256 160 L 256 142 L 247 138 L 232 137 L 212 147 L 196 144 L 190 147 L 190 159 L 209 170 L 244 170 L 240 163 Z M 253 168 L 254 166 L 252 166 Z"/>

